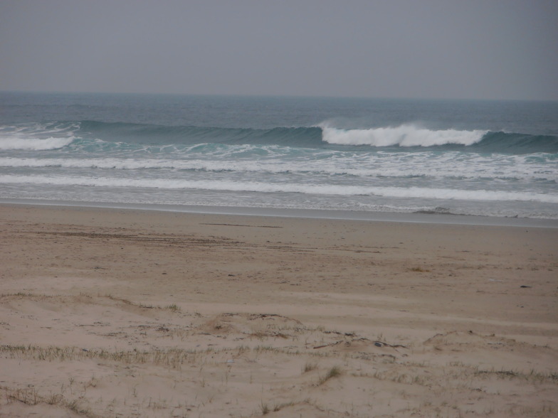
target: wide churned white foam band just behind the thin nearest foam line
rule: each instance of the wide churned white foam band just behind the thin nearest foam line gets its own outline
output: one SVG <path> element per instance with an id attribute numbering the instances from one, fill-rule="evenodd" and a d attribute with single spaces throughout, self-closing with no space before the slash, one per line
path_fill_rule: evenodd
<path id="1" fill-rule="evenodd" d="M 370 152 L 332 154 L 330 158 L 282 160 L 281 156 L 268 159 L 144 159 L 144 158 L 14 158 L 0 157 L 0 167 L 62 167 L 101 168 L 114 170 L 196 170 L 208 172 L 231 171 L 235 173 L 293 173 L 360 178 L 463 178 L 463 179 L 544 179 L 558 181 L 558 166 L 552 161 L 530 161 L 531 156 L 490 155 L 449 151 L 434 153 L 382 153 Z M 549 164 L 551 163 L 551 164 Z"/>

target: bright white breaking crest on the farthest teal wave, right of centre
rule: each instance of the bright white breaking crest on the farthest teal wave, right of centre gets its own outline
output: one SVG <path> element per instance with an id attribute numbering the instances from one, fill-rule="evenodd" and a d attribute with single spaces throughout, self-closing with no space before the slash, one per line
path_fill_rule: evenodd
<path id="1" fill-rule="evenodd" d="M 483 139 L 488 131 L 433 131 L 404 124 L 400 127 L 373 129 L 337 129 L 327 124 L 322 128 L 322 140 L 328 144 L 371 146 L 435 146 L 445 144 L 472 145 Z"/>

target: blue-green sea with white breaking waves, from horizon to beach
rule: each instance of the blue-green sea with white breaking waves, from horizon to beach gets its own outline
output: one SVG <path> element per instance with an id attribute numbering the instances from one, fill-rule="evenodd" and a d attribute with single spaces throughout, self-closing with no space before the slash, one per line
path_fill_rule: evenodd
<path id="1" fill-rule="evenodd" d="M 558 102 L 0 93 L 0 199 L 558 219 Z"/>

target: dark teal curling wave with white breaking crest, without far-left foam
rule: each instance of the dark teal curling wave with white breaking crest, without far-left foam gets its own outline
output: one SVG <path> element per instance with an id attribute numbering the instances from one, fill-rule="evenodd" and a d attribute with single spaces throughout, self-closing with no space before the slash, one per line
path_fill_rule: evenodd
<path id="1" fill-rule="evenodd" d="M 399 127 L 339 129 L 327 123 L 315 127 L 275 127 L 272 129 L 164 126 L 151 124 L 81 121 L 80 134 L 105 141 L 136 144 L 262 144 L 320 148 L 331 146 L 372 146 L 470 149 L 470 151 L 530 154 L 558 153 L 558 136 L 482 129 L 427 129 L 404 124 Z"/>

